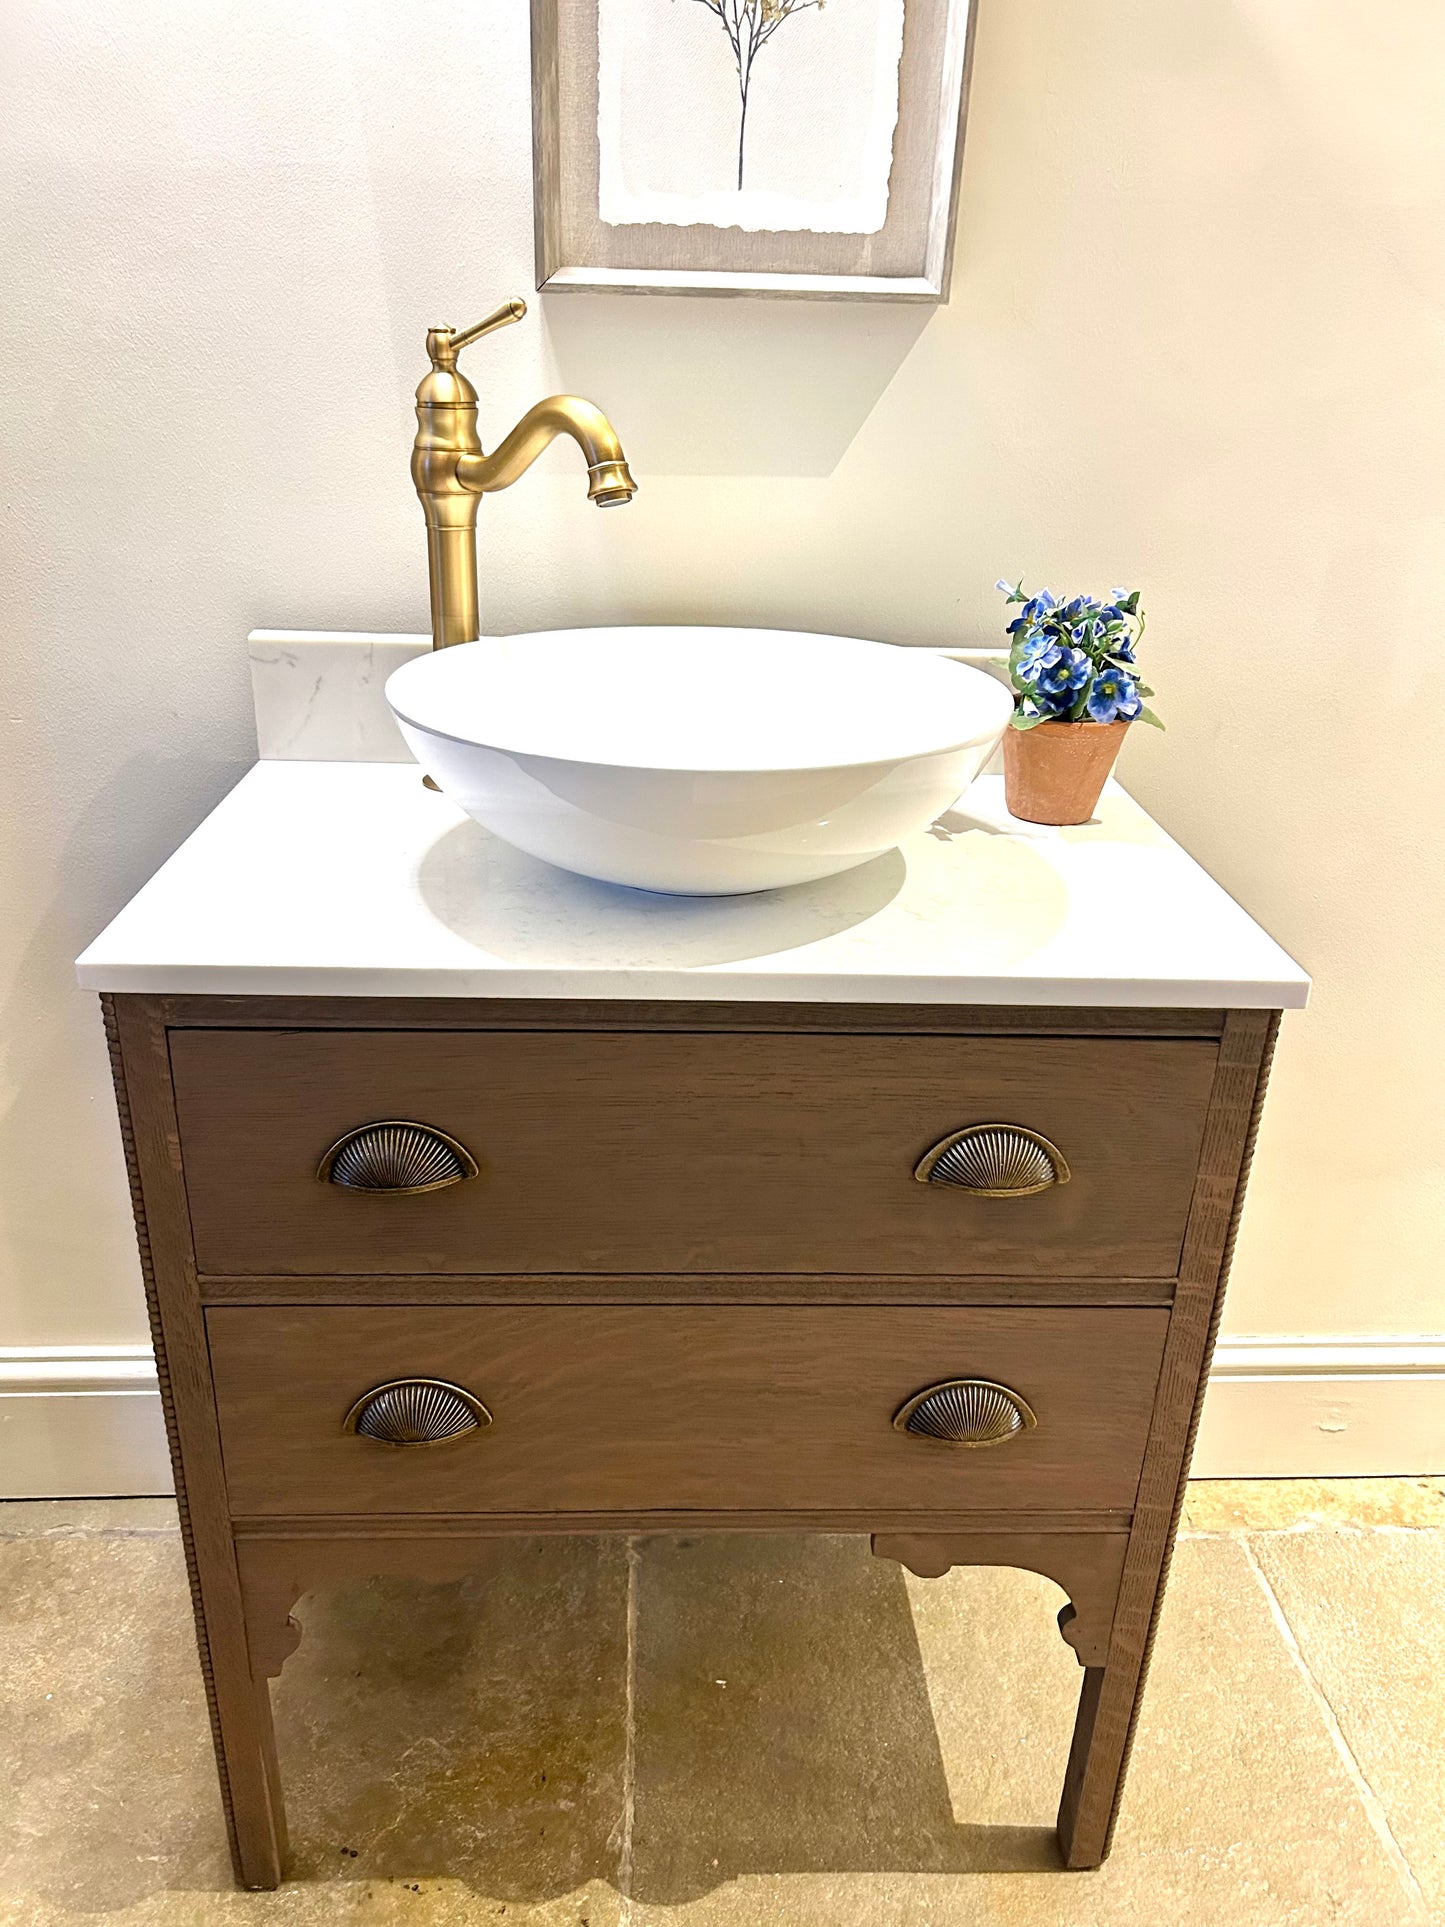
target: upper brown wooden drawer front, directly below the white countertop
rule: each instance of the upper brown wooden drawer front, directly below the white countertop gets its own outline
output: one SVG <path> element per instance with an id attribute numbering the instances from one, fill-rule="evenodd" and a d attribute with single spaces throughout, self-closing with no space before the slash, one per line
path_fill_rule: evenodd
<path id="1" fill-rule="evenodd" d="M 197 1262 L 239 1276 L 1169 1278 L 1214 1060 L 1154 1039 L 171 1031 Z M 441 1133 L 414 1174 L 476 1175 L 318 1181 L 378 1120 Z M 1069 1181 L 915 1179 L 983 1123 L 1042 1135 Z"/>

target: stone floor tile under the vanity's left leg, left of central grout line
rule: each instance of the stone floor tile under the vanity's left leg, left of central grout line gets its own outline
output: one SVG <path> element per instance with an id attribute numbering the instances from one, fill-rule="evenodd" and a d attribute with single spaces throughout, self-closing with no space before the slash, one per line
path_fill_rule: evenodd
<path id="1" fill-rule="evenodd" d="M 77 1509 L 77 1518 L 85 1509 Z M 293 1873 L 231 1888 L 175 1534 L 0 1536 L 0 1923 L 617 1927 L 618 1542 L 304 1599 L 276 1690 Z"/>

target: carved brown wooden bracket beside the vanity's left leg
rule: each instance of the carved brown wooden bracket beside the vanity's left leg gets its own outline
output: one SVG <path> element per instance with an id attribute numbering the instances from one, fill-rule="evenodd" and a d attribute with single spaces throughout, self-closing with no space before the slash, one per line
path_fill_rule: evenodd
<path id="1" fill-rule="evenodd" d="M 247 1617 L 247 1648 L 254 1678 L 276 1678 L 301 1644 L 291 1617 L 297 1599 L 314 1586 L 345 1578 L 420 1578 L 434 1586 L 486 1565 L 497 1540 L 466 1538 L 241 1538 L 235 1563 Z"/>

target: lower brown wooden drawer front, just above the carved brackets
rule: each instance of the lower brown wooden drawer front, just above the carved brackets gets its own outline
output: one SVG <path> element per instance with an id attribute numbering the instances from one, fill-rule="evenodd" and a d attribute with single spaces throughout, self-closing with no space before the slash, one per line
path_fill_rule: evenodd
<path id="1" fill-rule="evenodd" d="M 237 1517 L 1114 1511 L 1133 1505 L 1168 1316 L 254 1307 L 212 1310 L 206 1330 Z M 1021 1401 L 1033 1426 L 975 1449 L 898 1430 L 919 1393 L 973 1378 Z M 393 1426 L 395 1411 L 368 1393 L 408 1380 L 459 1387 L 491 1422 L 428 1445 L 345 1430 L 349 1414 Z M 992 1412 L 1008 1405 L 1000 1393 Z M 476 1407 L 435 1397 L 441 1430 L 474 1424 Z"/>

